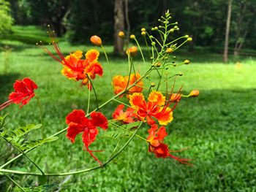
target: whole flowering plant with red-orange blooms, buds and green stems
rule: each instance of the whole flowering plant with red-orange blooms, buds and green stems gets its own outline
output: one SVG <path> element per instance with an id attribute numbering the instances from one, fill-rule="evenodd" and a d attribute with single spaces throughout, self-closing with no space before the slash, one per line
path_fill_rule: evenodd
<path id="1" fill-rule="evenodd" d="M 63 55 L 56 40 L 55 32 L 48 26 L 50 46 L 53 47 L 53 50 L 56 53 L 51 53 L 48 46 L 43 45 L 42 42 L 37 45 L 42 47 L 42 50 L 63 66 L 61 74 L 63 74 L 64 77 L 67 77 L 69 80 L 79 81 L 81 87 L 86 85 L 89 91 L 88 104 L 86 109 L 75 109 L 72 110 L 72 112 L 69 112 L 66 118 L 67 127 L 63 128 L 61 131 L 57 131 L 50 137 L 45 137 L 45 131 L 43 130 L 42 124 L 28 125 L 13 131 L 7 131 L 5 128 L 5 119 L 7 118 L 7 115 L 0 117 L 0 137 L 20 152 L 19 155 L 0 166 L 0 173 L 5 174 L 12 180 L 9 174 L 51 177 L 89 172 L 102 168 L 113 161 L 113 159 L 128 146 L 129 142 L 134 137 L 143 139 L 146 145 L 148 145 L 148 152 L 154 153 L 157 158 L 170 158 L 181 164 L 192 165 L 192 159 L 181 158 L 179 155 L 175 155 L 175 153 L 181 152 L 182 150 L 170 150 L 170 147 L 164 142 L 164 139 L 167 137 L 168 126 L 173 121 L 173 110 L 177 107 L 179 101 L 181 101 L 182 98 L 196 97 L 199 95 L 198 90 L 193 90 L 187 95 L 181 93 L 182 87 L 178 88 L 177 91 L 174 91 L 176 77 L 181 74 L 170 74 L 171 67 L 183 64 L 186 65 L 189 64 L 190 61 L 185 60 L 181 64 L 176 64 L 173 62 L 172 53 L 178 50 L 178 48 L 186 42 L 192 41 L 192 38 L 185 35 L 178 39 L 172 39 L 172 34 L 175 31 L 178 31 L 179 28 L 176 26 L 177 23 L 170 23 L 170 19 L 170 13 L 167 11 L 165 17 L 159 19 L 159 26 L 151 28 L 152 34 L 149 34 L 149 32 L 146 31 L 146 28 L 141 28 L 141 36 L 145 41 L 148 52 L 147 56 L 144 55 L 135 35 L 132 34 L 129 37 L 132 42 L 135 43 L 135 45 L 130 47 L 128 37 L 125 37 L 123 31 L 119 32 L 118 36 L 124 40 L 126 47 L 125 53 L 127 54 L 127 64 L 129 67 L 126 76 L 120 74 L 112 75 L 113 72 L 109 66 L 108 55 L 105 52 L 100 37 L 94 35 L 90 40 L 93 45 L 102 49 L 108 66 L 99 63 L 99 50 L 96 49 L 87 51 L 84 58 L 81 50 L 76 50 L 69 55 Z M 180 43 L 180 41 L 182 42 Z M 148 69 L 142 73 L 136 70 L 133 62 L 134 58 L 139 55 L 138 51 L 143 59 L 143 65 L 148 65 Z M 112 76 L 110 86 L 113 88 L 113 96 L 102 104 L 99 104 L 97 99 L 98 93 L 94 88 L 94 81 L 97 81 L 97 76 L 104 78 L 105 68 L 108 67 L 110 75 Z M 158 82 L 148 82 L 146 79 L 149 79 L 149 77 L 154 74 L 157 74 Z M 170 84 L 170 82 L 172 82 L 173 85 L 168 89 L 168 83 Z M 4 110 L 5 107 L 12 103 L 20 104 L 20 107 L 23 107 L 24 105 L 29 104 L 30 99 L 35 96 L 41 111 L 39 97 L 34 93 L 35 89 L 37 89 L 37 84 L 33 80 L 30 80 L 27 77 L 23 80 L 17 80 L 13 87 L 14 92 L 10 93 L 8 101 L 0 105 L 0 110 Z M 94 93 L 97 102 L 97 107 L 94 110 L 90 109 L 91 93 Z M 108 117 L 108 115 L 104 115 L 100 111 L 112 101 L 116 103 L 116 109 L 111 112 L 112 117 Z M 26 134 L 39 128 L 41 128 L 42 131 L 41 139 L 36 141 L 26 140 Z M 110 154 L 109 158 L 105 161 L 97 158 L 97 155 L 95 155 L 96 152 L 103 151 L 98 149 L 91 150 L 90 146 L 93 142 L 100 142 L 102 139 L 99 137 L 97 138 L 101 128 L 103 131 L 107 132 L 111 129 L 111 131 L 116 131 L 117 133 L 119 130 L 127 133 L 121 136 L 127 137 L 127 142 L 122 146 L 118 146 L 118 142 L 113 153 Z M 148 129 L 148 134 L 141 136 L 139 134 L 140 128 Z M 74 143 L 76 137 L 81 134 L 83 150 L 91 155 L 97 166 L 73 172 L 45 173 L 44 170 L 26 155 L 29 151 L 36 149 L 46 142 L 54 142 L 58 139 L 59 134 L 64 132 L 66 132 L 66 137 L 71 143 Z M 21 156 L 25 156 L 39 172 L 23 172 L 13 169 L 4 169 L 7 165 L 10 165 Z M 12 181 L 23 190 L 15 180 Z"/>

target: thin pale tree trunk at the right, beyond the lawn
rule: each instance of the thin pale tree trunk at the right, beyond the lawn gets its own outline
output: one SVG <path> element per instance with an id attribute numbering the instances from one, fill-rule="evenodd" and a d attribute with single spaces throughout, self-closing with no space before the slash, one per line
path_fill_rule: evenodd
<path id="1" fill-rule="evenodd" d="M 231 20 L 231 10 L 232 10 L 232 0 L 228 1 L 227 4 L 227 22 L 226 22 L 226 33 L 225 33 L 225 44 L 224 44 L 224 52 L 223 52 L 223 61 L 227 62 L 228 60 L 228 42 L 230 35 L 230 20 Z"/>

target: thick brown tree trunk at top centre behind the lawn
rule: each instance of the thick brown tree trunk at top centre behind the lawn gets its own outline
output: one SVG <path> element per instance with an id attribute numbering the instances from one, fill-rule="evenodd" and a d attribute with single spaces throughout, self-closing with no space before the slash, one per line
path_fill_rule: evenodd
<path id="1" fill-rule="evenodd" d="M 118 32 L 124 31 L 123 0 L 115 0 L 114 8 L 114 53 L 124 55 L 124 41 L 118 37 Z"/>

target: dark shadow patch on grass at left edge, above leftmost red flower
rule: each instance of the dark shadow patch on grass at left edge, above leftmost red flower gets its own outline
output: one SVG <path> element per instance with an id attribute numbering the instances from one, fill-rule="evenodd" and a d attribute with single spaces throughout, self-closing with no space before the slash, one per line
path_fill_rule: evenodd
<path id="1" fill-rule="evenodd" d="M 12 85 L 19 75 L 18 73 L 0 74 L 0 104 L 8 100 L 9 94 L 13 91 Z"/>

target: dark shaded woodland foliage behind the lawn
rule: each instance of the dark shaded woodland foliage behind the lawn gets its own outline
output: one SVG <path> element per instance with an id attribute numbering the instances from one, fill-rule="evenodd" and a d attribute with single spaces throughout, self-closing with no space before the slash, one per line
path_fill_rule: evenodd
<path id="1" fill-rule="evenodd" d="M 113 43 L 114 0 L 10 0 L 10 3 L 17 24 L 50 23 L 59 34 L 67 30 L 66 36 L 70 42 L 86 43 L 89 42 L 86 39 L 97 34 L 104 42 Z M 128 4 L 131 34 L 140 35 L 142 26 L 156 26 L 157 18 L 170 9 L 173 22 L 179 22 L 179 33 L 193 37 L 190 50 L 196 45 L 222 53 L 227 1 L 128 0 Z M 255 49 L 256 42 L 250 40 L 256 38 L 255 0 L 236 0 L 232 7 L 229 48 L 237 51 L 241 47 Z"/>

